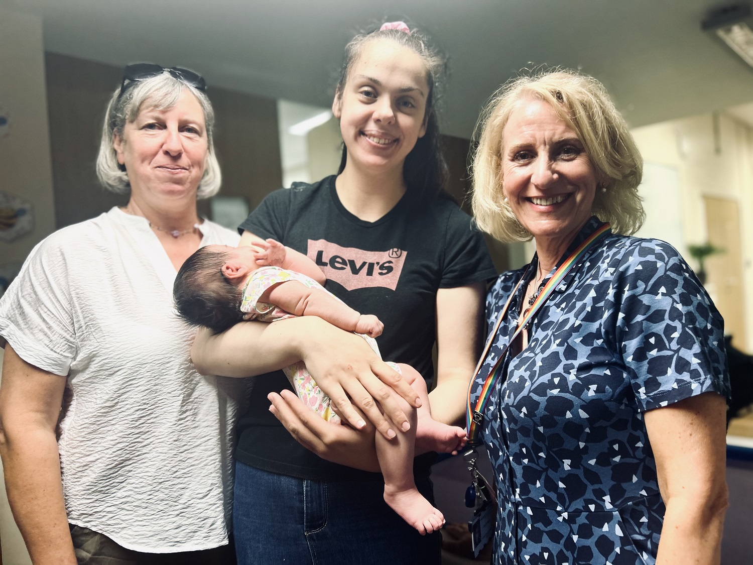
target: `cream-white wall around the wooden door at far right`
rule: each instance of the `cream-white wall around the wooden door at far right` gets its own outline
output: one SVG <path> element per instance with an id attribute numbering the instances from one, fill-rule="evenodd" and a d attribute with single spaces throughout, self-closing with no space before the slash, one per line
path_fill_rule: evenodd
<path id="1" fill-rule="evenodd" d="M 687 255 L 687 245 L 707 240 L 703 197 L 737 202 L 744 292 L 741 307 L 748 336 L 747 344 L 739 347 L 753 352 L 753 129 L 721 113 L 639 127 L 633 130 L 633 136 L 647 163 L 642 186 L 642 194 L 648 194 L 646 226 L 650 231 L 652 225 L 665 224 L 669 232 L 651 234 L 644 230 L 641 235 L 668 240 L 697 268 L 696 261 Z M 676 228 L 677 210 L 681 211 L 681 229 Z M 714 298 L 713 289 L 710 291 Z"/>

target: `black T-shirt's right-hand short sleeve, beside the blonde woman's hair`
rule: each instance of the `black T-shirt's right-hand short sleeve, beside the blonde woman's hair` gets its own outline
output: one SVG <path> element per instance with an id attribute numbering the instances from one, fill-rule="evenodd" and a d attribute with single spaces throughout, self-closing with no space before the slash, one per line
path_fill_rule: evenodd
<path id="1" fill-rule="evenodd" d="M 486 241 L 471 216 L 453 206 L 447 221 L 439 288 L 453 289 L 497 276 Z"/>

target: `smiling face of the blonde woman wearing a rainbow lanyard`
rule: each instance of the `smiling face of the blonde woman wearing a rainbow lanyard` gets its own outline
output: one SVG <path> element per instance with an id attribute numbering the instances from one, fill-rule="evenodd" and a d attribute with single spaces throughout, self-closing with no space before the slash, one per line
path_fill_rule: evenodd
<path id="1" fill-rule="evenodd" d="M 521 99 L 502 134 L 502 190 L 523 227 L 569 243 L 591 216 L 596 171 L 578 135 L 547 102 Z"/>

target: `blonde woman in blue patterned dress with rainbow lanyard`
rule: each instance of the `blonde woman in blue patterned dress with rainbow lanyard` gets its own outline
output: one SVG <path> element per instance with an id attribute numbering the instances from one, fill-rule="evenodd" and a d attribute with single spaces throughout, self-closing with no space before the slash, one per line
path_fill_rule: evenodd
<path id="1" fill-rule="evenodd" d="M 497 487 L 492 563 L 718 563 L 724 322 L 672 246 L 629 237 L 644 215 L 625 121 L 560 71 L 505 84 L 479 129 L 478 224 L 536 244 L 489 290 L 468 396 Z"/>

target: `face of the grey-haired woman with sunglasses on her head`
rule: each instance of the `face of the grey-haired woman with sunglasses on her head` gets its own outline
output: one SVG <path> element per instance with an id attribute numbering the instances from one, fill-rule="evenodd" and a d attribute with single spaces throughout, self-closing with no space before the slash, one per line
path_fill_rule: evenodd
<path id="1" fill-rule="evenodd" d="M 183 90 L 172 108 L 148 102 L 123 136 L 114 136 L 117 162 L 126 167 L 133 197 L 157 203 L 163 197 L 196 197 L 209 143 L 204 112 Z"/>

